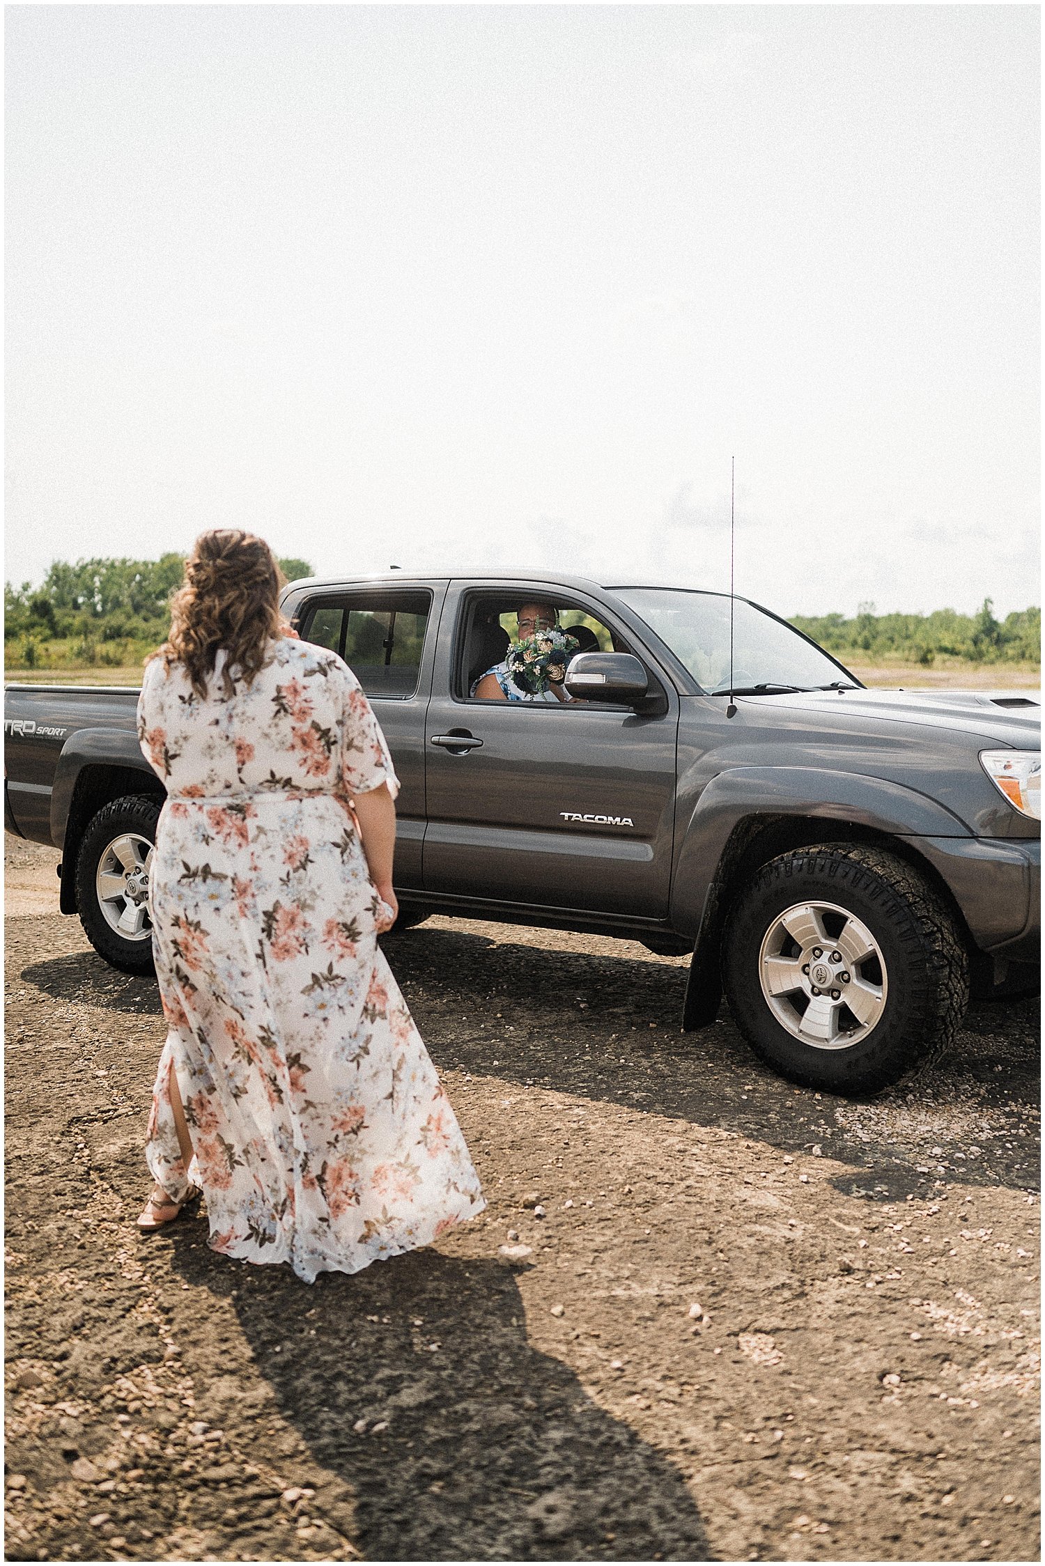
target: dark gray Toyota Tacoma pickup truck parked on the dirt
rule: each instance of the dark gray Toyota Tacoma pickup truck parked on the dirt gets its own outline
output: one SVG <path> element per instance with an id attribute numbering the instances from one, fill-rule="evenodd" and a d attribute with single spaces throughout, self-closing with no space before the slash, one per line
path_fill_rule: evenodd
<path id="1" fill-rule="evenodd" d="M 569 700 L 476 698 L 526 604 L 578 642 Z M 763 1060 L 837 1093 L 946 1046 L 970 990 L 1037 982 L 1037 695 L 868 691 L 746 598 L 558 573 L 298 581 L 284 609 L 389 739 L 403 927 L 439 911 L 691 954 L 685 1029 L 724 990 Z M 9 684 L 5 821 L 61 849 L 63 913 L 147 972 L 163 791 L 135 703 Z"/>

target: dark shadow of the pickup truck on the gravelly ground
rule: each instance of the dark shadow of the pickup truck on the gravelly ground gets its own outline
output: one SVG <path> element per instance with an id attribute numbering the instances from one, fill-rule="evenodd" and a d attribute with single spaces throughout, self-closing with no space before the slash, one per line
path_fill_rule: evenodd
<path id="1" fill-rule="evenodd" d="M 682 1034 L 685 965 L 555 951 L 555 932 L 547 940 L 531 946 L 421 926 L 385 941 L 437 1066 L 721 1126 L 786 1153 L 819 1148 L 854 1170 L 837 1189 L 871 1201 L 924 1192 L 942 1173 L 929 1153 L 951 1135 L 948 1117 L 960 1120 L 956 1134 L 976 1140 L 982 1112 L 998 1128 L 1012 1123 L 1011 1142 L 996 1129 L 974 1162 L 948 1168 L 949 1178 L 1040 1187 L 1034 1146 L 1020 1140 L 1040 1101 L 1037 999 L 971 1007 L 943 1060 L 854 1106 L 763 1066 L 725 1007 L 711 1027 Z M 94 952 L 34 963 L 22 977 L 66 1002 L 161 1010 L 155 980 L 116 972 Z"/>

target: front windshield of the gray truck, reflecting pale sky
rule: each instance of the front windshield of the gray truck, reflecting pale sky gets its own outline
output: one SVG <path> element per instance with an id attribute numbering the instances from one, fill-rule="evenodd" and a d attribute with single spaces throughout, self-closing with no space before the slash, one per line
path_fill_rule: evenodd
<path id="1" fill-rule="evenodd" d="M 677 592 L 671 587 L 614 587 L 675 658 L 686 666 L 697 684 L 722 692 L 730 683 L 730 600 L 727 594 Z M 733 686 L 750 691 L 815 691 L 835 683 L 851 684 L 844 672 L 819 647 L 757 609 L 744 598 L 733 600 Z"/>

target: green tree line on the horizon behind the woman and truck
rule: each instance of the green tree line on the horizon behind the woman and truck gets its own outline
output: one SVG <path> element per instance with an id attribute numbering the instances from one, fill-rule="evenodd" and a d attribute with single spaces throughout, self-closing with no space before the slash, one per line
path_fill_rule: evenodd
<path id="1" fill-rule="evenodd" d="M 288 581 L 313 575 L 309 561 L 288 557 L 279 564 Z M 8 583 L 3 595 L 8 669 L 141 662 L 168 634 L 171 594 L 183 567 L 185 556 L 175 553 L 158 561 L 55 561 L 39 587 Z M 865 655 L 918 664 L 932 664 L 940 656 L 1040 662 L 1042 611 L 1020 609 L 998 620 L 990 598 L 976 614 L 954 609 L 876 614 L 874 604 L 865 603 L 852 619 L 793 615 L 791 625 L 832 653 L 848 653 L 851 661 Z"/>

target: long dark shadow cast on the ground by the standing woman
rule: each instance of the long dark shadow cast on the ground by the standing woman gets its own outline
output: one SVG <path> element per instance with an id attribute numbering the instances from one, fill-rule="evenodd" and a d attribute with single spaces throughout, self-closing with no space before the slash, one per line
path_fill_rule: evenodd
<path id="1" fill-rule="evenodd" d="M 313 1514 L 365 1560 L 713 1558 L 677 1469 L 526 1342 L 511 1265 L 425 1250 L 306 1289 L 287 1267 L 230 1267 L 188 1228 L 172 1248 L 185 1281 L 230 1300 L 254 1377 L 323 1470 Z M 222 1405 L 216 1345 L 199 1369 L 213 1403 L 197 1413 L 257 1431 L 241 1377 Z"/>

